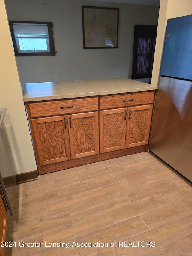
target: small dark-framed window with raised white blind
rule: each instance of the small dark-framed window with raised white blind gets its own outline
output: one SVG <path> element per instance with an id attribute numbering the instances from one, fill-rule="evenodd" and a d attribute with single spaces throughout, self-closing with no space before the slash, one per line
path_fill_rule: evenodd
<path id="1" fill-rule="evenodd" d="M 15 56 L 55 56 L 52 22 L 9 21 Z"/>

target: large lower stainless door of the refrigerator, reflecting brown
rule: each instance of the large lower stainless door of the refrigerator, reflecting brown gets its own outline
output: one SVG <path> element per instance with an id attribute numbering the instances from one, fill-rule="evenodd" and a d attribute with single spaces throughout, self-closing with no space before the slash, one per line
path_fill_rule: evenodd
<path id="1" fill-rule="evenodd" d="M 192 81 L 160 77 L 149 150 L 192 181 Z"/>

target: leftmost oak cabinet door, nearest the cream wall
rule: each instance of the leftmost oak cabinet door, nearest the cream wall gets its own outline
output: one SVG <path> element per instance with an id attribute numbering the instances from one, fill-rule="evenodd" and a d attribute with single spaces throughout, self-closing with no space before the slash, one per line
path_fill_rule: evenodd
<path id="1" fill-rule="evenodd" d="M 32 123 L 41 165 L 70 159 L 67 116 L 39 118 L 32 120 Z"/>

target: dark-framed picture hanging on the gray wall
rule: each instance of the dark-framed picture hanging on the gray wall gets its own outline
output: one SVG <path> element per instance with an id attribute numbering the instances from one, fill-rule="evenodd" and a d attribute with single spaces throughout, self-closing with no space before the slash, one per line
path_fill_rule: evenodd
<path id="1" fill-rule="evenodd" d="M 118 48 L 119 8 L 82 6 L 83 48 Z"/>

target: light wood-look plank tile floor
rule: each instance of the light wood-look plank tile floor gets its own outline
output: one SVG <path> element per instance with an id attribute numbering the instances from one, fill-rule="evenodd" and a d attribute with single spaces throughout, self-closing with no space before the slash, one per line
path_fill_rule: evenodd
<path id="1" fill-rule="evenodd" d="M 17 185 L 14 214 L 7 256 L 192 255 L 192 185 L 149 152 Z"/>

